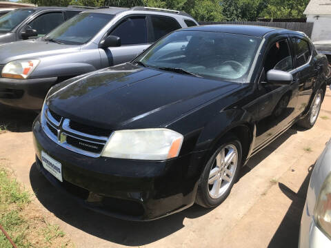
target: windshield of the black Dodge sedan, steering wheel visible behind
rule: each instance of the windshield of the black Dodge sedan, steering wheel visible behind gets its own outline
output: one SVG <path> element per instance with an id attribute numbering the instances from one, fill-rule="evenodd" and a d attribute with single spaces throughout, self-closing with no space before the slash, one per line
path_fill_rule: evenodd
<path id="1" fill-rule="evenodd" d="M 261 39 L 241 34 L 177 31 L 134 62 L 203 78 L 245 83 Z"/>

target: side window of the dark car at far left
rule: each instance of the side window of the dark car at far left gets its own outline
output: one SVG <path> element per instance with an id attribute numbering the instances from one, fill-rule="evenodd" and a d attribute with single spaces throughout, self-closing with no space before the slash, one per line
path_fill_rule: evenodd
<path id="1" fill-rule="evenodd" d="M 63 22 L 62 12 L 51 12 L 37 17 L 28 24 L 28 27 L 37 30 L 38 36 L 43 36 Z"/>

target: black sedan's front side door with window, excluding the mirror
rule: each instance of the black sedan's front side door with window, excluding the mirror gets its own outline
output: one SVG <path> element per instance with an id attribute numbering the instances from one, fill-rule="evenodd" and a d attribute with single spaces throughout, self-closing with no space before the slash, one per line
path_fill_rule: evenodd
<path id="1" fill-rule="evenodd" d="M 257 133 L 255 148 L 265 143 L 288 127 L 295 118 L 295 107 L 298 101 L 298 75 L 294 70 L 294 58 L 288 36 L 274 39 L 265 52 L 263 70 L 257 90 L 259 99 L 259 120 L 256 123 Z M 293 75 L 288 85 L 271 85 L 266 80 L 268 70 L 282 70 Z"/>

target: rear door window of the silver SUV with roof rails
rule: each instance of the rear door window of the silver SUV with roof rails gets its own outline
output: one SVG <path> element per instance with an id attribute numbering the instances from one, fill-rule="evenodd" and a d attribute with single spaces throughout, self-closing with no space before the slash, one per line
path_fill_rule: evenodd
<path id="1" fill-rule="evenodd" d="M 152 26 L 154 32 L 154 41 L 157 41 L 161 37 L 165 36 L 174 30 L 181 28 L 181 25 L 170 17 L 152 16 Z"/>

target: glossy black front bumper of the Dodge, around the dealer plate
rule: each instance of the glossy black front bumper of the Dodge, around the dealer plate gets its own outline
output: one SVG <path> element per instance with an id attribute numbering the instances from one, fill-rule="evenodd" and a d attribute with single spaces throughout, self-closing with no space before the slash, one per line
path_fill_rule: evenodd
<path id="1" fill-rule="evenodd" d="M 161 162 L 92 158 L 51 141 L 39 117 L 33 136 L 39 171 L 84 207 L 127 220 L 153 220 L 194 204 L 202 152 Z M 41 151 L 61 163 L 63 183 L 43 168 Z"/>

